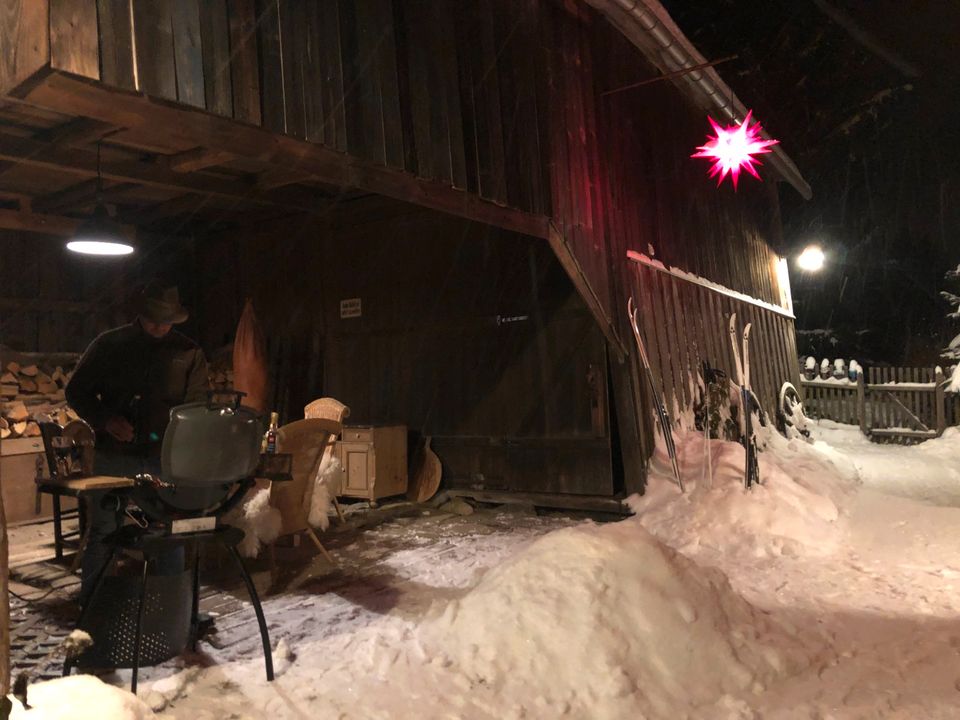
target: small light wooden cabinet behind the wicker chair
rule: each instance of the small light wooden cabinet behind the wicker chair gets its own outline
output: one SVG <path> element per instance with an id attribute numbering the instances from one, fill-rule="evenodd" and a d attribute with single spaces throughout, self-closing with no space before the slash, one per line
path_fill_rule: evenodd
<path id="1" fill-rule="evenodd" d="M 344 427 L 337 457 L 346 476 L 340 495 L 375 503 L 407 491 L 407 428 Z"/>

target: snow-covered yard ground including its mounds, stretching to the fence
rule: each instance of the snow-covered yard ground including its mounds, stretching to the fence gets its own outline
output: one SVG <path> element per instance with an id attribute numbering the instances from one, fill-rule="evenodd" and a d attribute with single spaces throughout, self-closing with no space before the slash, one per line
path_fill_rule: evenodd
<path id="1" fill-rule="evenodd" d="M 739 445 L 681 434 L 687 494 L 655 472 L 618 523 L 378 528 L 389 592 L 265 603 L 274 683 L 251 613 L 141 698 L 189 720 L 960 717 L 960 432 L 814 435 L 769 436 L 746 491 Z"/>

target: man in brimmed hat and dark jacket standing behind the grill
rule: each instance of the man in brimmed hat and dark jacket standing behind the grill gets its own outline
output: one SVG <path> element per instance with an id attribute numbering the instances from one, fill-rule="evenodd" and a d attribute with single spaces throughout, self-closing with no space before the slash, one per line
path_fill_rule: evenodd
<path id="1" fill-rule="evenodd" d="M 136 311 L 132 323 L 90 344 L 66 388 L 67 402 L 97 434 L 100 475 L 159 474 L 170 409 L 206 399 L 203 351 L 173 329 L 188 317 L 177 288 L 149 284 L 137 297 Z M 109 557 L 102 540 L 120 522 L 118 508 L 109 507 L 109 501 L 97 498 L 90 505 L 81 602 Z"/>

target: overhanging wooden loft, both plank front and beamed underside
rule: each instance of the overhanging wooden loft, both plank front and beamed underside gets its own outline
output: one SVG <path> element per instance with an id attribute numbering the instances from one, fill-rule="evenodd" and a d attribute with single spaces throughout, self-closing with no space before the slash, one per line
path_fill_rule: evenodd
<path id="1" fill-rule="evenodd" d="M 0 29 L 16 46 L 0 65 L 0 94 L 21 127 L 0 126 L 0 162 L 30 168 L 37 190 L 0 177 L 0 222 L 70 232 L 78 216 L 58 221 L 65 213 L 41 208 L 88 209 L 98 142 L 104 199 L 140 228 L 334 206 L 362 218 L 360 200 L 389 198 L 398 212 L 409 204 L 548 240 L 622 357 L 599 253 L 602 207 L 578 197 L 595 192 L 582 172 L 595 138 L 564 127 L 593 122 L 584 102 L 570 102 L 585 88 L 560 82 L 586 39 L 563 58 L 535 42 L 568 22 L 564 11 L 538 28 L 505 6 L 519 25 L 500 47 L 475 8 L 412 4 L 399 18 L 376 16 L 377 0 L 305 6 L 270 4 L 255 17 L 253 0 L 117 5 L 129 12 L 15 2 Z M 383 37 L 360 32 L 372 20 Z M 479 44 L 458 50 L 455 27 L 474 26 Z M 548 100 L 575 116 L 548 118 Z"/>

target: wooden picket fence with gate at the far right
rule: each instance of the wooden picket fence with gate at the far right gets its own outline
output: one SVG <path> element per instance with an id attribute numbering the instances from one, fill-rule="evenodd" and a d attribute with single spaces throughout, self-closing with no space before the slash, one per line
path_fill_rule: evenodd
<path id="1" fill-rule="evenodd" d="M 857 380 L 801 378 L 808 417 L 859 425 L 865 435 L 898 443 L 939 437 L 960 424 L 960 400 L 945 391 L 939 368 L 867 368 Z"/>

